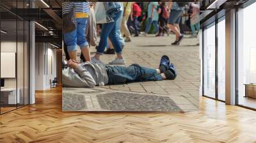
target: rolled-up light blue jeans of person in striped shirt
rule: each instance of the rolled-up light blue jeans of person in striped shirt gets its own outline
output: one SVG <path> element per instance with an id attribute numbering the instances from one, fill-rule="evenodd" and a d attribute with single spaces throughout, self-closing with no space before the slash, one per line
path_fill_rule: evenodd
<path id="1" fill-rule="evenodd" d="M 89 45 L 85 34 L 88 18 L 77 18 L 76 22 L 77 26 L 74 31 L 63 34 L 68 52 L 76 51 L 77 45 L 79 45 L 80 49 Z"/>

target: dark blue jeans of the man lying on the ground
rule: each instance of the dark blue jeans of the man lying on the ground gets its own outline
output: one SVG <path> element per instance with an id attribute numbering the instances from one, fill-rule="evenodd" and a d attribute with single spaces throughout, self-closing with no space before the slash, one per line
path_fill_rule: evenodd
<path id="1" fill-rule="evenodd" d="M 144 82 L 163 80 L 154 68 L 145 68 L 138 64 L 131 66 L 106 66 L 108 84 L 124 84 L 126 82 Z"/>

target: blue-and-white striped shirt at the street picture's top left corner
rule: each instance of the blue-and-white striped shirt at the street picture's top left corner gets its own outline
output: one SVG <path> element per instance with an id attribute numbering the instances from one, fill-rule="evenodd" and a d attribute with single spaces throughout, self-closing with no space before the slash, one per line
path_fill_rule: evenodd
<path id="1" fill-rule="evenodd" d="M 75 13 L 90 13 L 90 2 L 64 2 L 62 3 L 62 14 L 69 13 L 73 7 Z"/>

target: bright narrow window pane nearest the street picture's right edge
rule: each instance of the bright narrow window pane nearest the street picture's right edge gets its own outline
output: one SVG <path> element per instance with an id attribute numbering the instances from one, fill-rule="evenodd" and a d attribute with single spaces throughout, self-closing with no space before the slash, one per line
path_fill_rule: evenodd
<path id="1" fill-rule="evenodd" d="M 204 30 L 204 95 L 215 98 L 215 26 Z"/>

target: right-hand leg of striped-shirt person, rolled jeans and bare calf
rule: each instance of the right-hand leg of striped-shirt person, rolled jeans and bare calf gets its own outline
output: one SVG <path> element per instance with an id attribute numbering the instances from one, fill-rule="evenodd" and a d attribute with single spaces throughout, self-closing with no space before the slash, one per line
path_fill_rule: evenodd
<path id="1" fill-rule="evenodd" d="M 91 61 L 89 43 L 86 38 L 86 28 L 88 24 L 88 19 L 80 18 L 77 19 L 77 45 L 79 45 L 81 52 L 86 61 Z"/>

